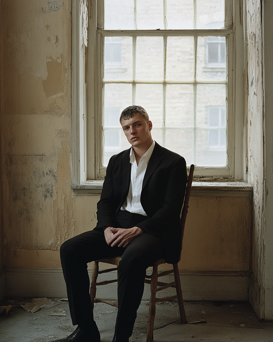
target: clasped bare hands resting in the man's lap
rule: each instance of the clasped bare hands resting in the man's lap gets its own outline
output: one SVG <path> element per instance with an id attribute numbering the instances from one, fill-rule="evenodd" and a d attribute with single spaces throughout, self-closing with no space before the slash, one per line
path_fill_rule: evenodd
<path id="1" fill-rule="evenodd" d="M 142 233 L 143 230 L 139 227 L 124 229 L 108 226 L 104 228 L 105 241 L 111 247 L 118 246 L 126 248 L 130 242 Z"/>

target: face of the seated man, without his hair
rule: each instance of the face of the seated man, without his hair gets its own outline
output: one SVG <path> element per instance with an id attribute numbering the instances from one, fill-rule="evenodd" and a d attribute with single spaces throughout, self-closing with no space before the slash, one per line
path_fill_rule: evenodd
<path id="1" fill-rule="evenodd" d="M 121 127 L 132 146 L 141 146 L 142 144 L 145 144 L 148 139 L 151 139 L 150 131 L 153 124 L 151 121 L 147 122 L 140 114 L 137 114 L 128 120 L 121 120 Z"/>

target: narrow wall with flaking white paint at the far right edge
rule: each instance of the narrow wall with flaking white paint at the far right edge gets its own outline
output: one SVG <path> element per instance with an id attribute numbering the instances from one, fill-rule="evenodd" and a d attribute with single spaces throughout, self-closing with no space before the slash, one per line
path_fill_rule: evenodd
<path id="1" fill-rule="evenodd" d="M 271 1 L 246 1 L 248 182 L 253 184 L 249 300 L 266 320 L 273 318 L 272 9 Z"/>

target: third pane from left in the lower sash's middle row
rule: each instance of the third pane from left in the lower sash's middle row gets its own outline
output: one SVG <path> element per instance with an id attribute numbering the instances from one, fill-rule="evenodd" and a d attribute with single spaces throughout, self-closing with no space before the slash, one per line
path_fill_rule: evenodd
<path id="1" fill-rule="evenodd" d="M 167 84 L 166 126 L 192 126 L 193 87 L 191 84 Z"/>

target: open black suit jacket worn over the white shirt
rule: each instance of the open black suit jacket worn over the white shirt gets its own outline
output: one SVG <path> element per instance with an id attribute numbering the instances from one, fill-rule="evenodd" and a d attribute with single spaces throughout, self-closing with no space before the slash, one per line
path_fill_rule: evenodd
<path id="1" fill-rule="evenodd" d="M 95 229 L 117 227 L 115 218 L 128 195 L 131 181 L 130 150 L 120 152 L 109 160 L 97 205 L 98 224 Z M 170 264 L 179 260 L 182 231 L 180 213 L 186 184 L 185 159 L 155 143 L 140 198 L 147 219 L 138 227 L 146 233 L 162 235 L 166 261 Z"/>

